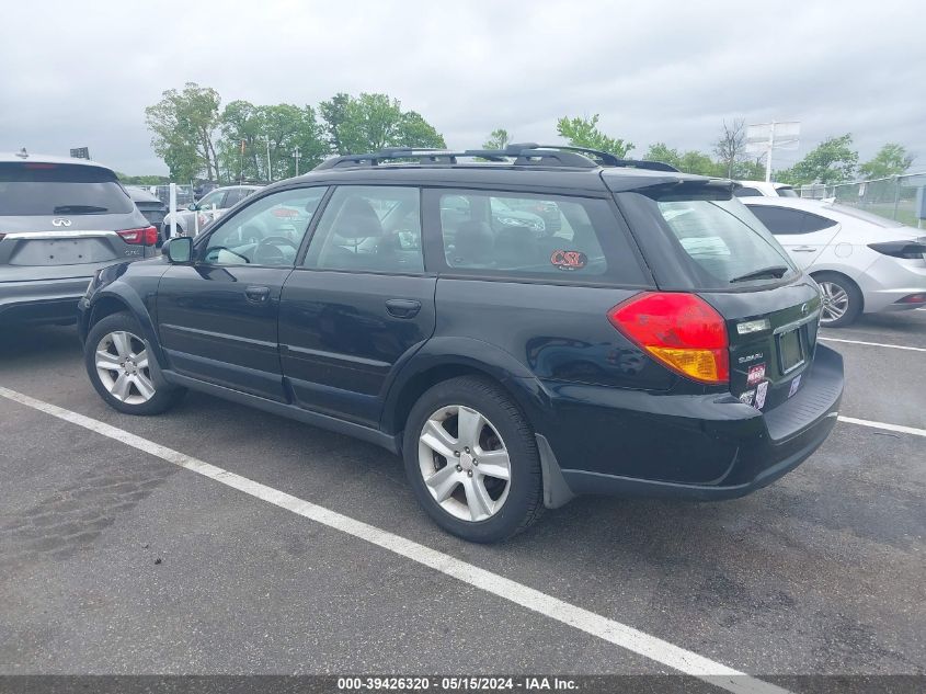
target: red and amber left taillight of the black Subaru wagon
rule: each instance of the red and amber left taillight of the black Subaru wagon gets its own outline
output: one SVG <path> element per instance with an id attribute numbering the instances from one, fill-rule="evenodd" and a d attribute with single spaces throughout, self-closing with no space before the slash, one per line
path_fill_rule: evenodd
<path id="1" fill-rule="evenodd" d="M 683 376 L 709 384 L 730 380 L 727 325 L 699 296 L 645 292 L 611 308 L 608 320 Z"/>

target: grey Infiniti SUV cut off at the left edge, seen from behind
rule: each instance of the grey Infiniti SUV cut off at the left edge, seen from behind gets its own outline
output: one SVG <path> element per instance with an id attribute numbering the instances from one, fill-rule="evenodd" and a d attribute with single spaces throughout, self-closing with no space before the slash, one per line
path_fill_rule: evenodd
<path id="1" fill-rule="evenodd" d="M 96 270 L 153 255 L 157 240 L 112 169 L 0 153 L 0 323 L 72 323 Z"/>

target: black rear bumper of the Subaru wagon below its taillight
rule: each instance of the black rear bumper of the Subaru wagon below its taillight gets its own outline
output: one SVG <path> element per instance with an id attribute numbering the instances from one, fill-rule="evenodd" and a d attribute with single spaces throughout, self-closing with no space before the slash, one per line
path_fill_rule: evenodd
<path id="1" fill-rule="evenodd" d="M 793 397 L 768 413 L 732 396 L 664 396 L 647 412 L 581 407 L 581 419 L 568 419 L 588 424 L 571 432 L 572 444 L 560 432 L 549 439 L 574 494 L 742 497 L 798 467 L 833 430 L 842 356 L 818 345 L 802 380 Z M 583 396 L 590 402 L 590 394 Z"/>

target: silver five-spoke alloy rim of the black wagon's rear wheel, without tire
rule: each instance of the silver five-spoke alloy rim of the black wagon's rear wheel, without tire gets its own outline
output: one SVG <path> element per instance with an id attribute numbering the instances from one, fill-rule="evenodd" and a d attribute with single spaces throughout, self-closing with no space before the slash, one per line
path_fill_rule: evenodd
<path id="1" fill-rule="evenodd" d="M 505 503 L 511 459 L 498 429 L 479 411 L 442 407 L 419 435 L 419 466 L 432 498 L 450 515 L 484 521 Z"/>

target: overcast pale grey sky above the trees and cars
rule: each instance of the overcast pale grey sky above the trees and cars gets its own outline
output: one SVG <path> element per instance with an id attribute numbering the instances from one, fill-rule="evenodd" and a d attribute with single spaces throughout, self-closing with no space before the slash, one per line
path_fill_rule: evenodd
<path id="1" fill-rule="evenodd" d="M 800 121 L 797 151 L 851 133 L 926 170 L 926 41 L 912 0 L 873 2 L 7 2 L 0 151 L 92 157 L 167 173 L 145 107 L 185 82 L 224 103 L 316 105 L 385 92 L 454 148 L 504 127 L 558 143 L 559 117 L 601 114 L 630 156 L 664 141 L 710 150 L 724 120 Z"/>

